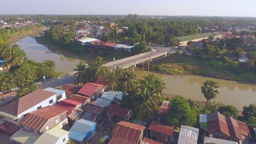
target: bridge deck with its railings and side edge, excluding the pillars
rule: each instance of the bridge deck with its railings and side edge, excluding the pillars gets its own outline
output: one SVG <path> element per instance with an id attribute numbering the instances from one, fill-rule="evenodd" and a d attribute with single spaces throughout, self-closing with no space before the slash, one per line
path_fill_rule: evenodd
<path id="1" fill-rule="evenodd" d="M 127 68 L 129 66 L 133 66 L 134 64 L 142 63 L 142 61 L 145 62 L 150 59 L 157 58 L 157 57 L 160 57 L 160 56 L 163 56 L 166 54 L 167 54 L 167 52 L 164 52 L 164 51 L 156 51 L 156 52 L 152 52 L 152 53 L 148 52 L 146 54 L 144 53 L 140 56 L 135 56 L 133 58 L 128 57 L 125 60 L 109 62 L 104 66 L 107 66 L 110 70 L 114 69 L 114 66 L 120 66 L 121 68 Z"/>

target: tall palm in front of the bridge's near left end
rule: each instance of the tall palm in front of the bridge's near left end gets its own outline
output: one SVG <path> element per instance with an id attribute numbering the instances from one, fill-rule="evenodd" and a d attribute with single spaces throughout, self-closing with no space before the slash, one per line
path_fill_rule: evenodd
<path id="1" fill-rule="evenodd" d="M 98 56 L 94 62 L 90 63 L 90 69 L 95 72 L 94 76 L 96 78 L 103 78 L 106 75 L 108 68 L 103 66 L 105 63 L 106 62 L 104 62 L 103 58 L 100 56 Z"/>

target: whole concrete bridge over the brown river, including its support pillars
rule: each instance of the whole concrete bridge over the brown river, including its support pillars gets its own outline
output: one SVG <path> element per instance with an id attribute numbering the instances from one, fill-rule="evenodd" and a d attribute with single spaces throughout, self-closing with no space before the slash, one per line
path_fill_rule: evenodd
<path id="1" fill-rule="evenodd" d="M 148 62 L 148 70 L 149 70 L 149 62 L 151 62 L 152 59 L 158 58 L 160 56 L 166 56 L 167 51 L 151 51 L 151 52 L 145 52 L 142 54 L 138 54 L 135 56 L 130 56 L 128 58 L 123 58 L 120 60 L 115 60 L 113 62 L 108 62 L 104 64 L 103 66 L 108 67 L 110 70 L 115 69 L 116 66 L 120 66 L 120 68 L 124 69 L 132 66 L 132 72 L 134 70 L 134 67 L 136 67 L 136 64 L 142 63 L 142 69 L 144 69 L 144 62 Z"/>

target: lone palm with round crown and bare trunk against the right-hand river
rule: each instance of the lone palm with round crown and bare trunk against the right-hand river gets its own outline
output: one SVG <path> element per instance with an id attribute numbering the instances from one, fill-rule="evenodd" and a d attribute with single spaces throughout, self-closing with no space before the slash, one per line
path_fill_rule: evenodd
<path id="1" fill-rule="evenodd" d="M 201 91 L 207 100 L 205 108 L 207 106 L 208 100 L 214 99 L 217 94 L 219 94 L 219 91 L 216 90 L 216 88 L 220 88 L 220 86 L 218 85 L 218 82 L 215 82 L 214 80 L 206 80 L 204 85 L 201 87 Z"/>

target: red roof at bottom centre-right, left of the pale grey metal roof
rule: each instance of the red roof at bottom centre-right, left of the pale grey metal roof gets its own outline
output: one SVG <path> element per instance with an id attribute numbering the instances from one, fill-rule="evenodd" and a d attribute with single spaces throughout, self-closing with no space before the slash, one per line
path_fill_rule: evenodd
<path id="1" fill-rule="evenodd" d="M 154 132 L 158 132 L 160 134 L 165 134 L 168 136 L 172 136 L 174 127 L 173 126 L 167 126 L 164 123 L 157 122 L 157 121 L 152 121 L 148 130 L 152 130 Z"/>

